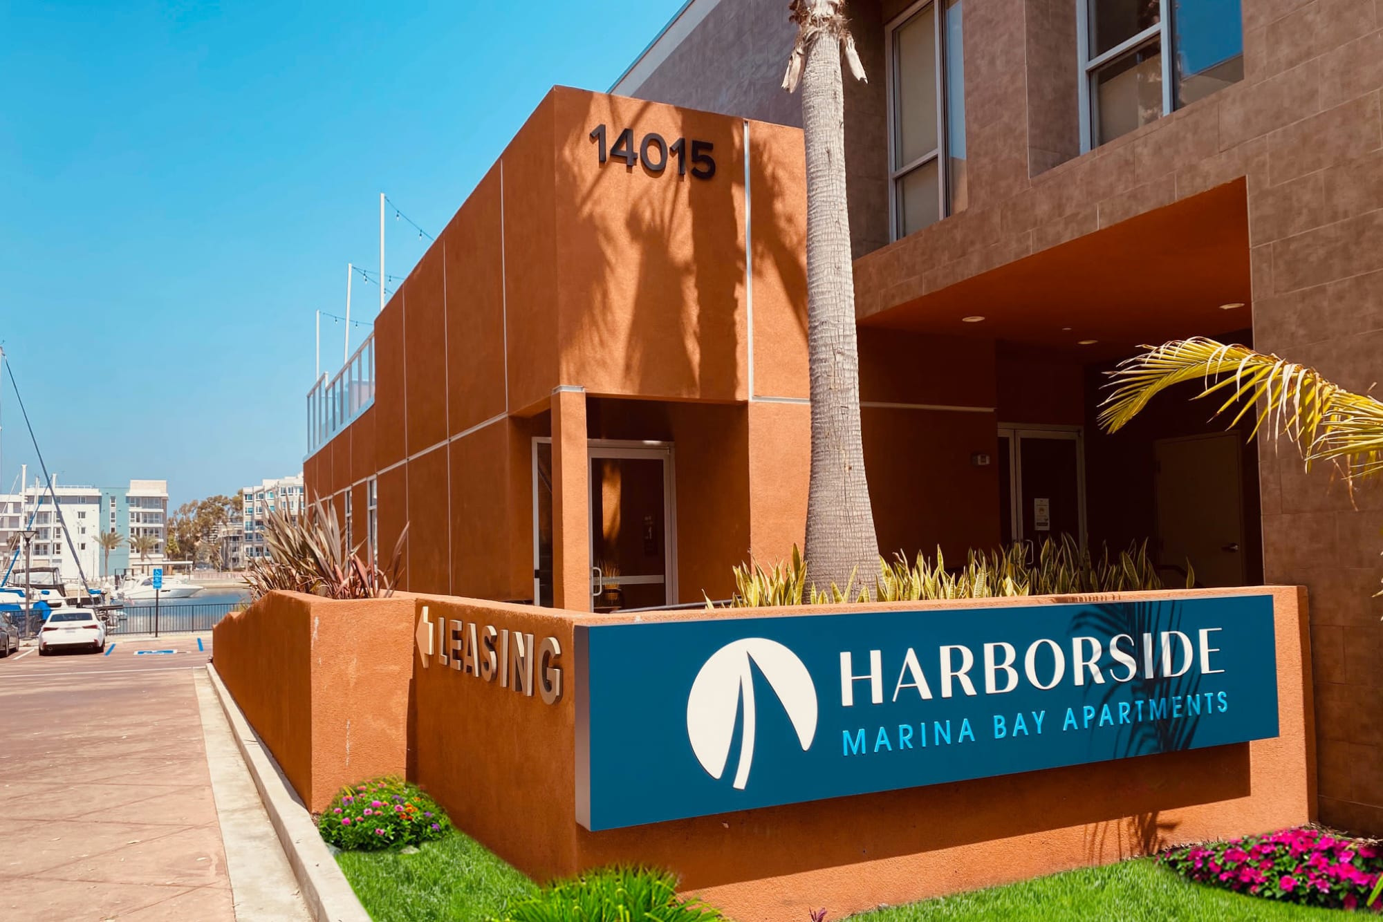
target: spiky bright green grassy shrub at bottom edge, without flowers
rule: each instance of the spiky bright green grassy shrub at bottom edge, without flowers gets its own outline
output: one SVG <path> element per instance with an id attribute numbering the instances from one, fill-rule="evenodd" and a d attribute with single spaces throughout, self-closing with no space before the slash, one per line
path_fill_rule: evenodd
<path id="1" fill-rule="evenodd" d="M 719 922 L 698 900 L 683 900 L 676 878 L 649 868 L 602 868 L 557 881 L 513 904 L 506 922 Z"/>

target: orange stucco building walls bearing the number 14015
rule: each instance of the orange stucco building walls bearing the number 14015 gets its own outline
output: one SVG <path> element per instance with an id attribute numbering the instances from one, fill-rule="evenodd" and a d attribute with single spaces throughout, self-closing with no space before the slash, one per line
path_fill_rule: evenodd
<path id="1" fill-rule="evenodd" d="M 671 153 L 661 173 L 602 164 L 596 124 L 610 147 L 625 127 L 636 144 L 653 133 L 709 142 L 715 176 L 694 178 L 690 162 L 679 176 Z M 676 444 L 680 597 L 723 596 L 729 567 L 754 550 L 754 518 L 779 516 L 779 493 L 797 491 L 750 489 L 758 449 L 745 401 L 751 384 L 806 394 L 804 213 L 795 129 L 555 88 L 376 319 L 373 406 L 307 459 L 310 495 L 340 507 L 353 491 L 364 536 L 362 487 L 378 476 L 383 558 L 408 525 L 402 587 L 528 599 L 531 438 L 564 416 L 555 550 L 570 583 L 559 596 L 579 605 L 586 503 L 575 467 L 600 435 L 573 415 L 585 399 L 629 398 L 651 415 L 629 409 L 649 426 L 621 438 Z M 585 395 L 564 398 L 564 415 L 559 387 Z M 805 445 L 795 429 L 792 444 Z M 802 503 L 805 492 L 788 507 Z M 772 556 L 798 531 L 777 529 Z"/>

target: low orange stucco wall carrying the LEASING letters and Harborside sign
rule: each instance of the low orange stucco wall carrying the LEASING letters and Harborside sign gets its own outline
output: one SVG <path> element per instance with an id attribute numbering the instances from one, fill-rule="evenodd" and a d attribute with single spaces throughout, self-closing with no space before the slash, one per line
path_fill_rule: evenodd
<path id="1" fill-rule="evenodd" d="M 544 879 L 610 863 L 680 875 L 737 919 L 845 915 L 1144 854 L 1173 842 L 1267 831 L 1315 816 L 1306 593 L 1176 590 L 1102 599 L 1264 593 L 1274 599 L 1279 735 L 1249 744 L 979 778 L 880 795 L 589 832 L 575 821 L 577 657 L 582 612 L 416 596 L 337 603 L 278 593 L 216 629 L 216 666 L 314 809 L 342 785 L 402 771 L 454 822 Z M 949 612 L 1076 599 L 985 599 L 881 608 Z M 1090 597 L 1079 599 L 1090 601 Z M 553 705 L 416 652 L 427 608 L 555 637 L 564 695 Z M 725 617 L 798 615 L 826 608 Z M 644 614 L 642 621 L 703 618 Z M 365 629 L 362 629 L 362 625 Z M 304 740 L 308 741 L 304 745 Z M 810 904 L 810 905 L 809 905 Z"/>

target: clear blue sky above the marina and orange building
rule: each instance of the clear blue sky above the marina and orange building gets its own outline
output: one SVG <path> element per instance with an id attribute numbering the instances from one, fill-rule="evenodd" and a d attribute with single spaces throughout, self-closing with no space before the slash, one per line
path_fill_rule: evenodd
<path id="1" fill-rule="evenodd" d="M 552 84 L 606 90 L 680 6 L 0 3 L 0 346 L 48 470 L 173 503 L 296 473 L 379 192 L 436 234 Z M 402 276 L 426 242 L 387 239 Z M 0 426 L 7 492 L 8 375 Z"/>

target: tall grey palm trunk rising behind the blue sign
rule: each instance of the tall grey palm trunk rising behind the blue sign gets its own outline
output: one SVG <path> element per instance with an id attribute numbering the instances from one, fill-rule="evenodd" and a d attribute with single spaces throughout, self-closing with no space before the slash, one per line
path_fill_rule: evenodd
<path id="1" fill-rule="evenodd" d="M 812 477 L 806 568 L 812 585 L 846 586 L 878 570 L 878 538 L 860 434 L 855 267 L 845 200 L 845 87 L 841 53 L 857 80 L 864 68 L 845 0 L 792 0 L 797 46 L 783 88 L 802 88 L 806 144 L 806 312 L 812 383 Z"/>

